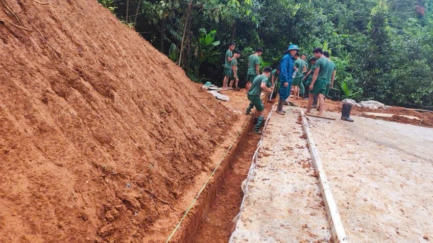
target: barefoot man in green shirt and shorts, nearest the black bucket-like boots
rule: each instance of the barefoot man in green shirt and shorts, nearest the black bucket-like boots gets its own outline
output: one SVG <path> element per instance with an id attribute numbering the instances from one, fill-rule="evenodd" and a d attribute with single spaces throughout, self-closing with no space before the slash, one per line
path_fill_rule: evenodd
<path id="1" fill-rule="evenodd" d="M 318 94 L 320 105 L 320 111 L 318 115 L 323 116 L 323 111 L 325 110 L 324 95 L 326 92 L 326 80 L 328 77 L 329 61 L 327 58 L 325 58 L 325 56 L 323 56 L 323 51 L 321 47 L 314 48 L 312 52 L 317 58 L 317 61 L 314 65 L 315 70 L 309 87 L 310 93 L 308 95 L 307 110 L 305 112 L 310 113 L 314 95 Z"/>

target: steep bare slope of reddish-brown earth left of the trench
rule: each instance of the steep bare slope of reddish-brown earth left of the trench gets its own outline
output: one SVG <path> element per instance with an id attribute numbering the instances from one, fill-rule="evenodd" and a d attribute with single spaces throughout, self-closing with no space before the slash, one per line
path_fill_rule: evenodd
<path id="1" fill-rule="evenodd" d="M 96 1 L 51 3 L 0 1 L 0 242 L 140 241 L 236 117 Z"/>

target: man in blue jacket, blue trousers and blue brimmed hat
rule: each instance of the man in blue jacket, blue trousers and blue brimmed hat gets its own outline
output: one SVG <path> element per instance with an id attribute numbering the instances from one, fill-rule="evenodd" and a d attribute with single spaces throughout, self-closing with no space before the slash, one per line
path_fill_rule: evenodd
<path id="1" fill-rule="evenodd" d="M 281 59 L 281 72 L 279 75 L 279 82 L 280 82 L 280 89 L 278 90 L 278 94 L 280 96 L 280 99 L 278 100 L 278 106 L 277 106 L 277 113 L 280 115 L 285 115 L 283 111 L 283 105 L 285 100 L 290 95 L 290 89 L 292 86 L 292 75 L 293 71 L 295 70 L 295 67 L 293 63 L 295 60 L 293 59 L 293 56 L 295 56 L 295 53 L 299 51 L 299 48 L 297 45 L 290 45 L 287 48 L 288 52 L 283 59 Z"/>

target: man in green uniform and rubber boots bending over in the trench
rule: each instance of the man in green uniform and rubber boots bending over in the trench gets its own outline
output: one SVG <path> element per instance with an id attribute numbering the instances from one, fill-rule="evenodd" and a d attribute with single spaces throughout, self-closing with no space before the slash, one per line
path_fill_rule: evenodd
<path id="1" fill-rule="evenodd" d="M 261 134 L 260 126 L 261 124 L 263 124 L 263 120 L 264 120 L 263 118 L 264 106 L 263 106 L 263 102 L 261 102 L 260 94 L 261 91 L 271 92 L 273 89 L 271 83 L 269 82 L 269 76 L 271 75 L 271 71 L 272 69 L 270 67 L 264 68 L 263 74 L 258 75 L 254 78 L 251 88 L 247 94 L 248 100 L 250 100 L 250 105 L 247 107 L 245 114 L 250 115 L 251 109 L 253 109 L 253 107 L 256 107 L 258 113 L 257 123 L 254 127 L 254 134 Z"/>

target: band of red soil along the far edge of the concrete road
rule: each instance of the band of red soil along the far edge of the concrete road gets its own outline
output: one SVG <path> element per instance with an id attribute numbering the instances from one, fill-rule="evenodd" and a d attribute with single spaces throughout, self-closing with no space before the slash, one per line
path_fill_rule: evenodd
<path id="1" fill-rule="evenodd" d="M 307 100 L 304 100 L 304 99 L 294 100 L 291 98 L 291 101 L 300 107 L 303 107 L 303 108 L 307 107 Z M 325 103 L 326 103 L 326 106 L 325 106 L 326 111 L 341 113 L 341 107 L 342 107 L 341 101 L 333 101 L 333 100 L 327 99 L 325 101 Z M 388 114 L 395 114 L 395 115 L 414 116 L 414 117 L 418 117 L 420 120 L 410 119 L 410 118 L 401 117 L 401 116 L 392 116 L 392 117 L 367 116 L 363 112 L 388 113 Z M 351 111 L 350 115 L 362 116 L 362 117 L 368 117 L 368 118 L 386 120 L 386 121 L 392 121 L 392 122 L 399 122 L 399 123 L 405 123 L 405 124 L 412 124 L 412 125 L 416 125 L 416 126 L 433 127 L 433 113 L 406 110 L 406 109 L 404 109 L 404 107 L 399 107 L 399 106 L 391 106 L 391 108 L 387 109 L 387 110 L 370 109 L 370 108 L 365 108 L 365 107 L 352 106 L 352 111 Z"/>

